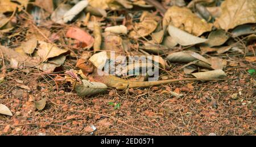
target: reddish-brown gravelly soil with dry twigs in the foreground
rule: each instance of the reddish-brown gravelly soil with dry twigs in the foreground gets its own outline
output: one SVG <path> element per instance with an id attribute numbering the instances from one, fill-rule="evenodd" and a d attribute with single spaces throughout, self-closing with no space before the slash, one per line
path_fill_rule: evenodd
<path id="1" fill-rule="evenodd" d="M 255 135 L 255 83 L 246 71 L 255 69 L 240 57 L 229 58 L 225 71 L 230 81 L 180 82 L 148 89 L 130 89 L 129 94 L 109 93 L 81 98 L 68 85 L 59 86 L 54 75 L 38 70 L 13 70 L 1 83 L 0 102 L 14 116 L 0 115 L 0 135 Z M 232 63 L 232 64 L 231 64 Z M 72 68 L 75 60 L 65 66 Z M 64 66 L 64 67 L 65 67 Z M 174 65 L 174 74 L 179 64 Z M 17 79 L 32 87 L 16 85 Z M 176 98 L 163 90 L 180 90 Z M 33 98 L 47 97 L 47 106 L 37 111 Z M 114 109 L 109 102 L 120 103 Z"/>

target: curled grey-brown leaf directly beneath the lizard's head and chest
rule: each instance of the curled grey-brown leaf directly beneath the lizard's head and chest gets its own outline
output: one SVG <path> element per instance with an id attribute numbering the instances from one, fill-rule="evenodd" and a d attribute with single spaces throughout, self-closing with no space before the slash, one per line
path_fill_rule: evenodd
<path id="1" fill-rule="evenodd" d="M 99 94 L 108 89 L 104 83 L 100 82 L 89 82 L 82 79 L 82 85 L 76 85 L 75 90 L 79 96 L 90 96 L 94 94 Z"/>

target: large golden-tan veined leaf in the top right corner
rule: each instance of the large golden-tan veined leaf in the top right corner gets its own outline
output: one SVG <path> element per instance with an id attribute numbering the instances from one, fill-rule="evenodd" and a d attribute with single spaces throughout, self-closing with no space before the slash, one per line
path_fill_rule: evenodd
<path id="1" fill-rule="evenodd" d="M 226 0 L 221 4 L 221 16 L 216 18 L 215 26 L 228 31 L 246 23 L 256 23 L 255 0 Z"/>

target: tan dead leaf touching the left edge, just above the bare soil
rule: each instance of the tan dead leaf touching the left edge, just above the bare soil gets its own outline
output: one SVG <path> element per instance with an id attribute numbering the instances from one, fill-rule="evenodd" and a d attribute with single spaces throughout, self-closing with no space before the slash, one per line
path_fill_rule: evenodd
<path id="1" fill-rule="evenodd" d="M 40 64 L 40 57 L 30 57 L 24 53 L 19 53 L 13 49 L 9 49 L 3 46 L 0 46 L 0 50 L 3 53 L 3 56 L 10 61 L 10 68 L 32 68 Z"/>

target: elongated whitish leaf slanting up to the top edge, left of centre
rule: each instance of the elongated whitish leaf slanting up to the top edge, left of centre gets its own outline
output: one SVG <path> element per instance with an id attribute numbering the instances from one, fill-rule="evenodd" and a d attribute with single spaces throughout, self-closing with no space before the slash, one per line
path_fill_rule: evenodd
<path id="1" fill-rule="evenodd" d="M 79 14 L 82 10 L 84 10 L 86 6 L 88 6 L 87 0 L 80 1 L 75 6 L 73 6 L 72 9 L 65 12 L 63 16 L 64 23 L 71 21 L 77 14 Z"/>

